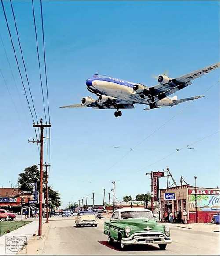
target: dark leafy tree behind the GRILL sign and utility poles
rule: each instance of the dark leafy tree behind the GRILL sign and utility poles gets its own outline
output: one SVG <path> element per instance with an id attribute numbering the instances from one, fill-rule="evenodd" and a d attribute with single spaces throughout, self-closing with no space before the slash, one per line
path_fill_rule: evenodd
<path id="1" fill-rule="evenodd" d="M 22 191 L 32 191 L 33 186 L 30 186 L 31 183 L 37 182 L 37 193 L 40 191 L 40 170 L 37 165 L 33 165 L 31 167 L 26 167 L 22 173 L 20 173 L 18 178 L 18 182 L 20 184 L 20 189 Z M 43 172 L 43 182 L 45 182 L 46 174 Z M 45 186 L 43 187 L 44 194 L 46 191 Z M 61 203 L 60 193 L 52 189 L 51 186 L 48 186 L 48 198 L 50 201 L 50 208 L 57 208 Z"/>

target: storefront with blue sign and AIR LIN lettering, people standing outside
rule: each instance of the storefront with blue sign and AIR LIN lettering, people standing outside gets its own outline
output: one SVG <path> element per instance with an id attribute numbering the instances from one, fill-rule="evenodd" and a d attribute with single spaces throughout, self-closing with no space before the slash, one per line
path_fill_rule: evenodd
<path id="1" fill-rule="evenodd" d="M 185 209 L 187 223 L 210 223 L 213 215 L 220 212 L 219 197 L 219 188 L 182 185 L 161 189 L 161 218 L 165 221 L 172 212 L 176 222 L 183 221 Z"/>

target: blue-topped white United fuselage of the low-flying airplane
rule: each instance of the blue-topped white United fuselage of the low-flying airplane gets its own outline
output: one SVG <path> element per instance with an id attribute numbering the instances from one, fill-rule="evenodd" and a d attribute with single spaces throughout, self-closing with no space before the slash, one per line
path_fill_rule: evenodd
<path id="1" fill-rule="evenodd" d="M 128 100 L 131 103 L 147 104 L 146 100 L 135 97 L 133 86 L 136 83 L 128 82 L 118 78 L 112 78 L 110 76 L 103 76 L 95 74 L 92 78 L 86 80 L 87 88 L 90 92 L 97 95 L 106 95 L 122 100 Z M 173 106 L 176 105 L 171 99 L 164 98 L 157 102 L 158 106 Z"/>

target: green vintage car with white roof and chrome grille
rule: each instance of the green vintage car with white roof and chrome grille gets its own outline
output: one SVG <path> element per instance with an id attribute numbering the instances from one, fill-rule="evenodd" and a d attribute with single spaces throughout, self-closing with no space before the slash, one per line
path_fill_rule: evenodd
<path id="1" fill-rule="evenodd" d="M 150 210 L 123 208 L 113 212 L 110 221 L 105 221 L 104 233 L 108 242 L 119 241 L 121 249 L 126 245 L 158 244 L 165 250 L 171 243 L 169 226 L 159 225 Z"/>

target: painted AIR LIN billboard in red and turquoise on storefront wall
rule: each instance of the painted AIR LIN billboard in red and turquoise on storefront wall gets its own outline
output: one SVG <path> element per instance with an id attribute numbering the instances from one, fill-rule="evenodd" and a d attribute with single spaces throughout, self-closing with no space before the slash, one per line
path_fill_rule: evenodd
<path id="1" fill-rule="evenodd" d="M 220 211 L 220 189 L 189 189 L 189 211 Z"/>

